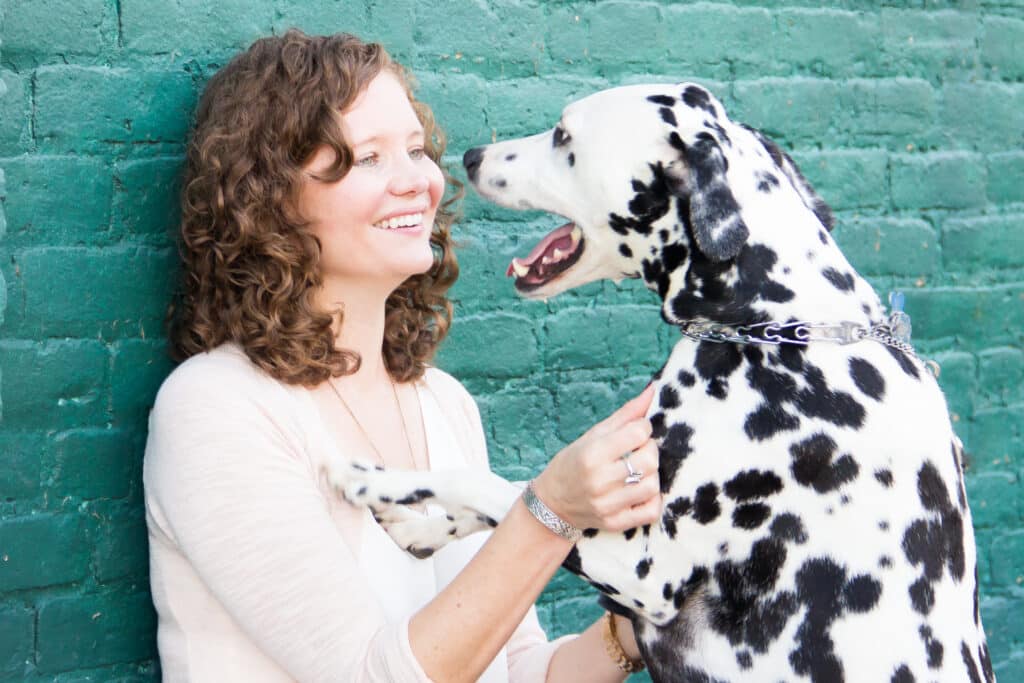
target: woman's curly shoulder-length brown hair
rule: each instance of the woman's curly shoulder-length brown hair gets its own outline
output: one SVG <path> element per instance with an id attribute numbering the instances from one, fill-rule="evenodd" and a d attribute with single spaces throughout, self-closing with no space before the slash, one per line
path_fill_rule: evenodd
<path id="1" fill-rule="evenodd" d="M 298 210 L 303 165 L 322 146 L 334 164 L 316 180 L 340 180 L 352 164 L 339 113 L 380 73 L 394 74 L 440 165 L 444 135 L 413 95 L 412 77 L 383 47 L 354 36 L 291 30 L 263 38 L 210 79 L 188 144 L 181 193 L 180 291 L 171 307 L 171 354 L 183 360 L 222 343 L 290 384 L 354 373 L 358 354 L 335 348 L 340 310 L 314 303 L 319 241 Z M 423 375 L 447 334 L 445 292 L 459 266 L 450 237 L 461 184 L 437 210 L 430 269 L 409 278 L 385 307 L 384 362 L 404 382 Z"/>

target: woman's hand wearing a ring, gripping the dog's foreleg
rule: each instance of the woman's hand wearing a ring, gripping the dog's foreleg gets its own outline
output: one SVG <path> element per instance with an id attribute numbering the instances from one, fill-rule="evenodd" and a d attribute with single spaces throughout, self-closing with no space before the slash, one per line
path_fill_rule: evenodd
<path id="1" fill-rule="evenodd" d="M 655 521 L 662 511 L 657 445 L 645 417 L 653 385 L 558 453 L 534 480 L 534 490 L 579 528 L 621 531 Z M 629 455 L 639 483 L 626 483 Z"/>

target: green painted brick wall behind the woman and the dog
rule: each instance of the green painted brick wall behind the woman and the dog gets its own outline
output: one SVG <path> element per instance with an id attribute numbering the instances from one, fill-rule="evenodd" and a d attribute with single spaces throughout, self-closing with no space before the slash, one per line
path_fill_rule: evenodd
<path id="1" fill-rule="evenodd" d="M 0 0 L 0 680 L 158 676 L 140 461 L 170 369 L 175 183 L 202 84 L 298 26 L 389 46 L 470 145 L 571 97 L 695 79 L 793 151 L 882 292 L 901 288 L 972 454 L 982 609 L 1024 680 L 1024 2 Z M 523 478 L 639 390 L 672 343 L 648 293 L 547 304 L 503 274 L 551 220 L 470 197 L 439 362 Z M 598 613 L 559 574 L 553 634 Z"/>

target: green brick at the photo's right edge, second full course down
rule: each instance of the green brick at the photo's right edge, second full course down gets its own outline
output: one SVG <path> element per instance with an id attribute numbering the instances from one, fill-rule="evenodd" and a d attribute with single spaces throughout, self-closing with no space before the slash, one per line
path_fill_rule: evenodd
<path id="1" fill-rule="evenodd" d="M 1002 152 L 1024 143 L 1024 87 L 949 83 L 942 97 L 942 127 L 950 146 Z"/>

